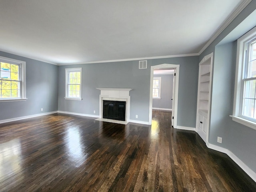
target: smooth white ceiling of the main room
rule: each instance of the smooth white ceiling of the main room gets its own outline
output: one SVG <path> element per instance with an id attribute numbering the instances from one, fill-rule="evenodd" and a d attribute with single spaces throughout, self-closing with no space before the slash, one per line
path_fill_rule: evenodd
<path id="1" fill-rule="evenodd" d="M 198 54 L 244 0 L 0 0 L 0 50 L 55 64 Z"/>

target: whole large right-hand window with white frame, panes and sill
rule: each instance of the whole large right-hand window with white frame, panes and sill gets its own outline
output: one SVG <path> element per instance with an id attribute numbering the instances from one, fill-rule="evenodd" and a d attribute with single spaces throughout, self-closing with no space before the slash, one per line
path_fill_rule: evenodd
<path id="1" fill-rule="evenodd" d="M 256 129 L 256 27 L 238 39 L 232 119 Z"/>

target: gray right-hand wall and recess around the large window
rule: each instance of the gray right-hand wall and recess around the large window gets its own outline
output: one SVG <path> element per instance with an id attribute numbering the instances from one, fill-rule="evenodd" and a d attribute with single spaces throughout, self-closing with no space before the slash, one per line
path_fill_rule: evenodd
<path id="1" fill-rule="evenodd" d="M 256 26 L 255 16 L 248 17 L 255 10 L 256 0 L 252 0 L 199 58 L 214 52 L 209 142 L 230 150 L 254 172 L 256 130 L 232 121 L 229 115 L 233 110 L 236 39 Z M 217 142 L 217 136 L 222 137 L 222 144 Z"/>

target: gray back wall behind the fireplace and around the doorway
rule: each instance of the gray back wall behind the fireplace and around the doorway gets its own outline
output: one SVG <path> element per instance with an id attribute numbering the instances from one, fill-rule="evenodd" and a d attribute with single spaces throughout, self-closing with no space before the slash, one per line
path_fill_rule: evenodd
<path id="1" fill-rule="evenodd" d="M 180 64 L 177 123 L 195 127 L 198 56 L 148 60 L 147 69 L 138 69 L 138 61 L 59 66 L 58 110 L 90 115 L 95 110 L 99 115 L 100 90 L 96 88 L 132 88 L 130 119 L 148 122 L 150 66 L 164 63 Z M 82 101 L 64 99 L 65 68 L 75 67 L 82 67 Z"/>

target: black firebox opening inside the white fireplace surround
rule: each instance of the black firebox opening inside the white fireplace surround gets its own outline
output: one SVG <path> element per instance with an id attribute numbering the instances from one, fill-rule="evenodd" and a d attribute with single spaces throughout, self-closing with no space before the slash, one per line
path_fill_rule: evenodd
<path id="1" fill-rule="evenodd" d="M 125 101 L 103 100 L 103 118 L 125 121 Z"/>

